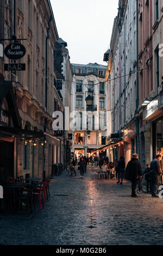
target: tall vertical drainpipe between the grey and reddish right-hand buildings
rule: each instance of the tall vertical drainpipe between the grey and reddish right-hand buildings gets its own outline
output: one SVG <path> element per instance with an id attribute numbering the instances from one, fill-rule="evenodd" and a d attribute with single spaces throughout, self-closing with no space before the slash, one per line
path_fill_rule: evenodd
<path id="1" fill-rule="evenodd" d="M 138 23 L 138 0 L 136 0 L 136 109 L 135 114 L 139 108 L 139 23 Z M 139 118 L 135 117 L 136 125 L 136 152 L 140 155 L 139 143 Z"/>

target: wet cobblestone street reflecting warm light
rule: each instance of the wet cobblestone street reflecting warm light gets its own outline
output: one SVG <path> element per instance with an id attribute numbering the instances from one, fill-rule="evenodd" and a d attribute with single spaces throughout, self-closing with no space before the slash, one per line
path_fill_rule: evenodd
<path id="1" fill-rule="evenodd" d="M 51 181 L 45 209 L 29 218 L 1 216 L 1 245 L 163 245 L 163 200 L 131 198 L 130 182 L 83 179 L 65 172 Z M 37 207 L 38 208 L 38 207 Z"/>

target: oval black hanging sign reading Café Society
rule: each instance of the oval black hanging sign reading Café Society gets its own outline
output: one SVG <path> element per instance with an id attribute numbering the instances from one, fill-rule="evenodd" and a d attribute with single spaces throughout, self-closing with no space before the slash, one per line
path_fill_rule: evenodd
<path id="1" fill-rule="evenodd" d="M 5 47 L 4 54 L 9 59 L 21 59 L 26 54 L 26 48 L 22 44 L 14 42 Z"/>

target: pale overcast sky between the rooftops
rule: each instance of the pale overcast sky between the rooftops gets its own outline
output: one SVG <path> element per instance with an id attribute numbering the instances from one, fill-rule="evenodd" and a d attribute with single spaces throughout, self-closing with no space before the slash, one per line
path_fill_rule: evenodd
<path id="1" fill-rule="evenodd" d="M 110 46 L 118 0 L 51 0 L 59 37 L 67 42 L 70 62 L 103 62 Z"/>

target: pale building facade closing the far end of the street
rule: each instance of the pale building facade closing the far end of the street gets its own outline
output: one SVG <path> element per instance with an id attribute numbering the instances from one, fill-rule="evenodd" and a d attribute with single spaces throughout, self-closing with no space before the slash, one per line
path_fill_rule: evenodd
<path id="1" fill-rule="evenodd" d="M 73 82 L 71 91 L 72 155 L 96 155 L 98 148 L 106 145 L 108 123 L 108 89 L 105 83 L 106 66 L 97 63 L 72 64 Z M 91 96 L 93 103 L 86 105 Z M 97 155 L 106 156 L 106 151 Z"/>

